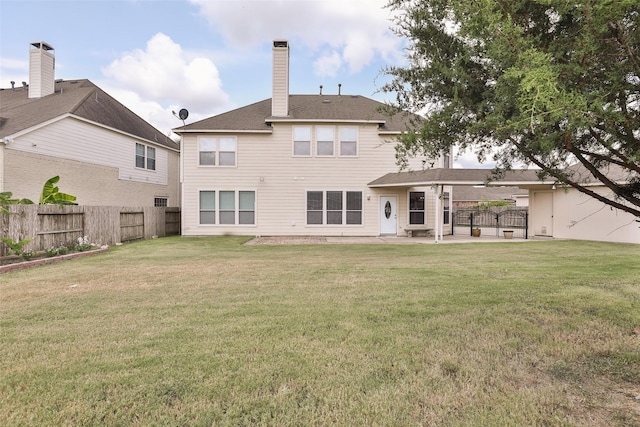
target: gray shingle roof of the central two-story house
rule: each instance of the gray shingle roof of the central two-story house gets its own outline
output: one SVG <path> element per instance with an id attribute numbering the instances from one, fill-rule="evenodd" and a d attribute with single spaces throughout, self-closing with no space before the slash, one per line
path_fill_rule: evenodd
<path id="1" fill-rule="evenodd" d="M 271 99 L 265 99 L 236 110 L 218 114 L 175 129 L 196 131 L 269 131 L 268 123 L 276 121 L 350 121 L 375 122 L 381 132 L 399 133 L 419 120 L 407 113 L 385 112 L 386 104 L 359 95 L 289 95 L 289 116 L 272 117 Z"/>

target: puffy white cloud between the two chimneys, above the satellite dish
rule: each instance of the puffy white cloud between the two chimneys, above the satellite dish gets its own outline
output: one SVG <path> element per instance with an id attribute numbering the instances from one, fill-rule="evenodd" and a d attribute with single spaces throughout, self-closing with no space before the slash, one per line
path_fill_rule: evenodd
<path id="1" fill-rule="evenodd" d="M 162 131 L 180 125 L 172 110 L 186 108 L 204 118 L 228 107 L 215 64 L 191 57 L 162 33 L 145 50 L 123 54 L 102 72 L 107 81 L 101 87 Z"/>

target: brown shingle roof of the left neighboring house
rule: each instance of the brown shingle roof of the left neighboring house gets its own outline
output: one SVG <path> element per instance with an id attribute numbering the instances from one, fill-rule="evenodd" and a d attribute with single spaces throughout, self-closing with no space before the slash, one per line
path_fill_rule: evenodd
<path id="1" fill-rule="evenodd" d="M 0 138 L 66 114 L 179 149 L 178 144 L 86 79 L 58 80 L 55 92 L 42 98 L 29 98 L 28 90 L 22 87 L 0 90 Z"/>

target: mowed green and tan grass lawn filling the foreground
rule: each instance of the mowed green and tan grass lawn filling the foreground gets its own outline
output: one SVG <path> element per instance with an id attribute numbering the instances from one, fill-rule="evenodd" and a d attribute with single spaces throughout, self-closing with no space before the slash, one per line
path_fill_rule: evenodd
<path id="1" fill-rule="evenodd" d="M 639 246 L 245 240 L 0 276 L 2 424 L 640 425 Z"/>

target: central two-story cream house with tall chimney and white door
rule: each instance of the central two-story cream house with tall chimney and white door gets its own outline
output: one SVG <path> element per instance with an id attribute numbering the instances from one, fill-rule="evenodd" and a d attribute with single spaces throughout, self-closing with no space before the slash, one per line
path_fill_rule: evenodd
<path id="1" fill-rule="evenodd" d="M 398 170 L 410 118 L 359 95 L 290 95 L 289 44 L 273 43 L 273 97 L 182 136 L 182 234 L 407 235 L 448 221 L 448 188 L 376 188 Z M 450 159 L 414 159 L 449 167 Z M 444 191 L 443 191 L 444 190 Z M 446 208 L 445 208 L 446 206 Z"/>

